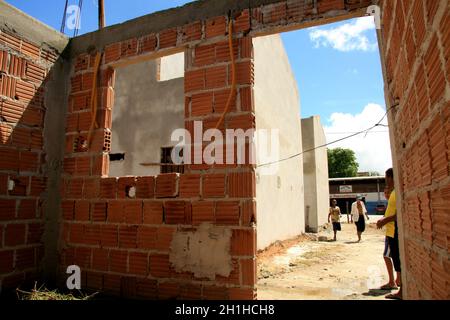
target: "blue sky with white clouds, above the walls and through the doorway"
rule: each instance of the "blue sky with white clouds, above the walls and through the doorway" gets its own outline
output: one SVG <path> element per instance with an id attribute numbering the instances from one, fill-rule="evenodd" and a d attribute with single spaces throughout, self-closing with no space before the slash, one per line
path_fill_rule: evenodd
<path id="1" fill-rule="evenodd" d="M 59 30 L 64 0 L 6 0 Z M 106 24 L 181 6 L 185 0 L 105 0 Z M 69 0 L 69 5 L 78 1 Z M 79 34 L 97 29 L 97 0 L 84 0 Z M 372 19 L 372 20 L 371 20 Z M 73 31 L 67 30 L 68 35 Z M 384 115 L 383 79 L 373 17 L 352 19 L 282 34 L 298 82 L 301 115 L 320 115 L 327 141 L 368 128 Z M 356 151 L 360 169 L 384 171 L 391 165 L 386 129 L 332 147 Z"/>

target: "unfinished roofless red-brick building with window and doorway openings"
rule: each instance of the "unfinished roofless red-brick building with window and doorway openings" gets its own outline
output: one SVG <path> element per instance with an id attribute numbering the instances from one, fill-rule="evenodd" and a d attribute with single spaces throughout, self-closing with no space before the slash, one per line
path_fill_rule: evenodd
<path id="1" fill-rule="evenodd" d="M 363 16 L 373 4 L 382 15 L 405 295 L 450 298 L 448 0 L 198 1 L 70 41 L 0 3 L 1 289 L 64 283 L 66 266 L 77 264 L 83 287 L 124 297 L 256 298 L 254 166 L 108 178 L 115 68 L 185 51 L 189 129 L 193 119 L 216 123 L 204 97 L 230 90 L 235 65 L 238 107 L 221 129 L 251 128 L 252 38 Z M 234 63 L 224 53 L 230 23 Z M 209 237 L 201 222 L 228 239 L 216 248 L 230 270 L 179 268 L 171 243 Z"/>

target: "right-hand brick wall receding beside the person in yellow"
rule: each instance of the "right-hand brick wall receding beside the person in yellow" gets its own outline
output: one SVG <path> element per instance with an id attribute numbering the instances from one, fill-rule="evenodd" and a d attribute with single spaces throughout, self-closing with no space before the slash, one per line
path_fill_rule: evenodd
<path id="1" fill-rule="evenodd" d="M 449 1 L 383 1 L 407 297 L 450 298 Z"/>

